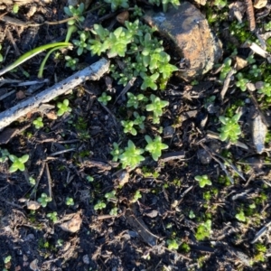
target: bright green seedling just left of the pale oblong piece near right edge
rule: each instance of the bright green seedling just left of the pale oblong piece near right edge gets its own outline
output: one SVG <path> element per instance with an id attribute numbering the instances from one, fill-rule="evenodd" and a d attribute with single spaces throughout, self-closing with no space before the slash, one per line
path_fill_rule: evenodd
<path id="1" fill-rule="evenodd" d="M 222 123 L 220 128 L 220 139 L 222 141 L 229 140 L 232 143 L 237 142 L 238 135 L 241 135 L 241 127 L 238 125 L 240 117 L 241 113 L 238 113 L 231 118 L 220 116 L 220 122 Z"/>

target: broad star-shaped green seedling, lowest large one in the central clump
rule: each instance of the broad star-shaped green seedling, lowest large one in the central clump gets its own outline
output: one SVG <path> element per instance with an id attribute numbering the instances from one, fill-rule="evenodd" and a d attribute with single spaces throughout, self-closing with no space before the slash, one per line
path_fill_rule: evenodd
<path id="1" fill-rule="evenodd" d="M 119 156 L 122 167 L 129 166 L 131 169 L 135 169 L 136 165 L 145 160 L 144 156 L 141 155 L 143 153 L 144 149 L 136 148 L 133 141 L 129 140 L 124 153 Z"/>

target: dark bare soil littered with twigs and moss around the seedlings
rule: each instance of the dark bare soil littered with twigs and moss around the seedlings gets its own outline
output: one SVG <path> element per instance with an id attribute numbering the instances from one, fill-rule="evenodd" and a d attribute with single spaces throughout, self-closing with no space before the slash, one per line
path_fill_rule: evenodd
<path id="1" fill-rule="evenodd" d="M 0 18 L 7 12 L 26 22 L 36 6 L 31 21 L 42 23 L 64 19 L 67 3 L 30 3 L 20 6 L 18 14 L 12 13 L 13 5 L 3 10 Z M 146 4 L 138 5 L 144 9 Z M 209 6 L 209 10 L 201 7 L 202 13 L 214 8 Z M 114 19 L 112 15 L 107 24 Z M 258 19 L 257 25 L 265 22 L 268 14 Z M 229 22 L 225 20 L 220 29 L 226 23 Z M 24 27 L 2 21 L 0 29 L 3 68 L 16 59 L 17 53 L 62 41 L 67 27 L 66 23 Z M 229 41 L 218 34 L 226 47 Z M 246 50 L 237 50 L 238 55 L 248 57 Z M 36 79 L 44 56 L 45 53 L 35 56 L 4 78 Z M 84 59 L 88 64 L 95 61 L 96 56 Z M 25 78 L 23 71 L 30 77 Z M 72 73 L 62 59 L 51 58 L 44 70 L 44 79 L 49 82 L 42 89 Z M 42 128 L 33 126 L 33 120 L 40 116 L 33 112 L 0 133 L 2 151 L 6 149 L 18 157 L 29 154 L 23 172 L 9 173 L 8 159 L 0 163 L 0 268 L 270 270 L 268 227 L 254 240 L 271 218 L 269 144 L 266 142 L 265 152 L 257 154 L 251 130 L 256 109 L 248 102 L 249 93 L 236 89 L 232 82 L 220 101 L 219 73 L 210 72 L 196 86 L 173 77 L 158 94 L 169 102 L 160 124 L 163 142 L 169 147 L 158 162 L 145 154 L 145 162 L 129 171 L 113 162 L 110 152 L 114 142 L 121 145 L 130 138 L 120 121 L 133 111 L 123 98 L 116 104 L 108 102 L 107 107 L 98 102 L 110 79 L 107 74 L 99 81 L 87 81 L 59 98 L 58 101 L 69 99 L 71 112 L 56 117 L 57 109 L 51 110 L 51 114 L 42 116 Z M 138 93 L 138 80 L 130 91 Z M 112 84 L 112 96 L 117 97 L 123 87 L 114 80 Z M 31 96 L 27 89 L 12 82 L 1 85 L 1 111 Z M 3 98 L 12 90 L 15 91 Z M 215 100 L 210 102 L 210 97 Z M 56 101 L 50 104 L 55 105 Z M 210 136 L 210 131 L 218 133 L 218 117 L 229 113 L 229 109 L 242 112 L 239 141 L 247 149 Z M 269 109 L 267 105 L 264 111 L 267 120 Z M 145 130 L 133 141 L 144 145 L 144 135 L 155 135 L 158 128 L 147 118 Z M 205 174 L 211 185 L 201 188 L 194 178 Z M 35 184 L 30 183 L 30 177 L 34 177 Z M 107 201 L 105 195 L 112 191 L 116 194 Z M 136 192 L 140 197 L 135 198 Z M 36 204 L 42 193 L 51 201 L 44 208 L 31 210 L 30 201 Z M 69 198 L 73 205 L 67 205 Z M 105 202 L 106 208 L 95 210 L 98 201 Z M 55 221 L 47 216 L 53 212 Z M 238 215 L 243 215 L 243 219 Z M 175 241 L 178 248 L 169 248 L 169 241 Z"/>

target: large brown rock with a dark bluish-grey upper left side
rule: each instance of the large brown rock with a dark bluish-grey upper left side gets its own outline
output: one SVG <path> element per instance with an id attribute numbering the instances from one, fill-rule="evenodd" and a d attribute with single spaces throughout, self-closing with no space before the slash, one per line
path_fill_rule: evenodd
<path id="1" fill-rule="evenodd" d="M 201 79 L 222 56 L 221 42 L 210 31 L 207 20 L 194 5 L 184 2 L 164 13 L 145 14 L 145 22 L 173 41 L 184 67 L 179 76 L 186 80 Z"/>

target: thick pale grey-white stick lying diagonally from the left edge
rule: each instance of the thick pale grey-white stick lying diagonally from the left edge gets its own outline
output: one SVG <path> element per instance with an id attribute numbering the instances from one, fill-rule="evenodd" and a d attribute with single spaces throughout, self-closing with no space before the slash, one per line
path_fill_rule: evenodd
<path id="1" fill-rule="evenodd" d="M 34 95 L 31 98 L 23 100 L 21 103 L 11 107 L 0 113 L 0 131 L 5 126 L 10 125 L 19 117 L 25 116 L 34 108 L 40 107 L 43 103 L 51 101 L 51 99 L 64 94 L 69 89 L 74 89 L 82 82 L 100 79 L 109 69 L 109 61 L 101 59 L 84 70 L 79 70 L 67 79 L 55 84 L 49 89 L 43 90 L 41 93 Z"/>

